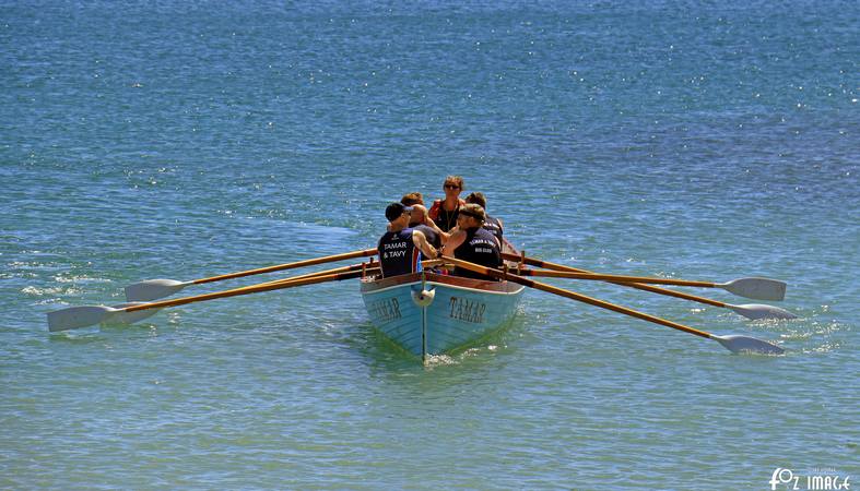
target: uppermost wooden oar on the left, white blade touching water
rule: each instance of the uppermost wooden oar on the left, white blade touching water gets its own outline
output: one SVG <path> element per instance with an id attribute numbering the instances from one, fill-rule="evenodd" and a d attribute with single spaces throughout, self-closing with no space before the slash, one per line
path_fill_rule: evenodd
<path id="1" fill-rule="evenodd" d="M 366 258 L 376 254 L 376 249 L 365 249 L 363 251 L 346 252 L 343 254 L 315 258 L 295 263 L 279 264 L 275 266 L 260 267 L 257 270 L 240 271 L 209 278 L 192 279 L 190 282 L 178 282 L 176 279 L 148 279 L 126 287 L 126 299 L 133 301 L 150 301 L 169 297 L 182 288 L 190 285 L 202 285 L 204 283 L 222 282 L 224 279 L 240 278 L 243 276 L 272 273 L 275 271 L 293 270 L 296 267 L 313 266 L 316 264 L 332 263 L 355 258 Z"/>

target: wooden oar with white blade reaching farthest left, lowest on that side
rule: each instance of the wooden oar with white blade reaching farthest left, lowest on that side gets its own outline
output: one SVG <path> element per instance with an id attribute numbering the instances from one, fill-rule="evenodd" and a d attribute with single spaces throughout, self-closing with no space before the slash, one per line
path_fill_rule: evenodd
<path id="1" fill-rule="evenodd" d="M 377 270 L 367 270 L 364 273 L 373 273 Z M 243 288 L 234 288 L 232 290 L 215 291 L 212 294 L 197 295 L 193 297 L 177 298 L 174 300 L 163 300 L 160 302 L 134 302 L 128 307 L 105 307 L 105 306 L 83 306 L 70 307 L 67 309 L 48 312 L 48 330 L 68 331 L 86 327 L 103 322 L 117 322 L 117 323 L 131 323 L 141 319 L 152 315 L 156 310 L 167 307 L 184 306 L 186 303 L 202 302 L 207 300 L 215 300 L 219 298 L 237 297 L 240 295 L 257 294 L 261 291 L 278 290 L 282 288 L 292 288 L 305 285 L 315 285 L 318 283 L 334 282 L 341 279 L 357 278 L 363 272 L 355 271 L 349 273 L 335 273 L 329 275 L 317 275 L 302 279 L 281 279 L 278 282 L 269 282 L 259 285 L 251 285 Z M 150 313 L 152 312 L 152 313 Z M 146 313 L 146 315 L 143 315 Z"/>

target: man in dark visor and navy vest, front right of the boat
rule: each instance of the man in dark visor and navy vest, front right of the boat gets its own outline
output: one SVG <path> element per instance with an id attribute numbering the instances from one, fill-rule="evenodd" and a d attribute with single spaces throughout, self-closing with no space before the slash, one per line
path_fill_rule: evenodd
<path id="1" fill-rule="evenodd" d="M 445 243 L 445 253 L 482 266 L 500 267 L 502 246 L 490 230 L 482 228 L 485 219 L 486 212 L 481 205 L 468 203 L 460 206 L 457 230 Z M 467 278 L 491 279 L 461 267 L 455 268 L 453 274 Z"/>

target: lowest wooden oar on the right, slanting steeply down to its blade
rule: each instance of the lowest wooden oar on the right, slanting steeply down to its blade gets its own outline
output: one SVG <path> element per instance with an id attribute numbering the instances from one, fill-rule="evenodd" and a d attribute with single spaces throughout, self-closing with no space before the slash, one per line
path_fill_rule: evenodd
<path id="1" fill-rule="evenodd" d="M 494 270 L 486 266 L 481 266 L 474 263 L 470 263 L 467 261 L 461 261 L 453 258 L 444 256 L 446 262 L 450 262 L 458 267 L 462 267 L 464 270 L 473 271 L 475 273 L 480 273 L 486 276 L 491 276 L 498 279 L 508 279 L 514 283 L 519 283 L 520 285 L 525 285 L 531 288 L 535 288 L 539 290 L 543 290 L 550 294 L 555 294 L 561 297 L 566 297 L 573 300 L 577 300 L 584 303 L 589 303 L 594 307 L 600 307 L 601 309 L 612 310 L 614 312 L 619 312 L 625 315 L 629 315 L 633 318 L 641 319 L 644 321 L 653 322 L 655 324 L 664 325 L 667 327 L 671 327 L 673 330 L 683 331 L 685 333 L 695 334 L 696 336 L 700 336 L 707 339 L 714 339 L 721 344 L 726 349 L 731 352 L 757 352 L 764 355 L 781 355 L 785 352 L 782 348 L 776 346 L 774 344 L 764 342 L 762 339 L 756 339 L 750 336 L 740 336 L 740 335 L 729 335 L 729 336 L 717 336 L 715 334 L 707 333 L 705 331 L 699 331 L 693 327 L 688 327 L 683 324 L 679 324 L 676 322 L 668 321 L 665 319 L 661 319 L 655 315 L 650 315 L 647 313 L 643 313 L 633 309 L 628 309 L 626 307 L 616 306 L 614 303 L 605 302 L 603 300 L 598 300 L 596 298 L 587 297 L 581 294 L 577 294 L 575 291 L 565 290 L 562 288 L 556 288 L 551 285 L 546 285 L 543 283 L 534 282 L 529 278 L 523 278 L 521 276 L 517 276 L 515 274 L 505 274 L 502 271 Z"/>

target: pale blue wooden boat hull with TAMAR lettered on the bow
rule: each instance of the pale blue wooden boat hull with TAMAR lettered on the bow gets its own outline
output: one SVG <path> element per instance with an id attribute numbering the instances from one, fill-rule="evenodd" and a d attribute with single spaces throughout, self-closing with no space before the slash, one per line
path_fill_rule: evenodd
<path id="1" fill-rule="evenodd" d="M 361 288 L 374 325 L 422 360 L 473 345 L 506 325 L 525 289 L 429 271 L 364 278 Z"/>

